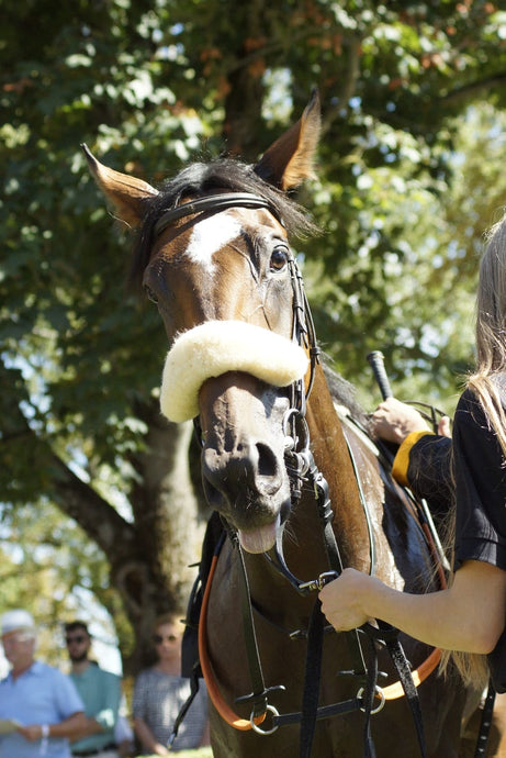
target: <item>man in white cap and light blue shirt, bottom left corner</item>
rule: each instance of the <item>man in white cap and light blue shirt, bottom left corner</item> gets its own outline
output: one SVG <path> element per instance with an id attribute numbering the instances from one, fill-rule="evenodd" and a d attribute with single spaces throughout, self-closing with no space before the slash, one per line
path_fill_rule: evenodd
<path id="1" fill-rule="evenodd" d="M 35 660 L 36 628 L 27 611 L 7 611 L 1 634 L 11 670 L 0 682 L 0 757 L 70 758 L 69 739 L 86 723 L 74 683 Z"/>

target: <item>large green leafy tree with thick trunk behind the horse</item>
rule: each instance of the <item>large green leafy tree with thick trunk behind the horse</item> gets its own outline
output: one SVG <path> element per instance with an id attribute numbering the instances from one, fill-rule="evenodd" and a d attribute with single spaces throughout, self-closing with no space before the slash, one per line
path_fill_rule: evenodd
<path id="1" fill-rule="evenodd" d="M 421 258 L 424 281 L 434 281 L 438 246 L 414 253 L 421 237 L 406 239 L 419 216 L 429 234 L 427 214 L 453 186 L 461 114 L 474 102 L 504 105 L 506 22 L 494 3 L 470 0 L 32 0 L 5 10 L 3 519 L 22 504 L 40 517 L 54 502 L 79 524 L 133 627 L 125 668 L 135 670 L 154 616 L 183 602 L 182 567 L 198 556 L 203 513 L 191 430 L 158 411 L 161 324 L 126 293 L 127 234 L 119 241 L 78 144 L 150 182 L 226 147 L 250 160 L 317 83 L 321 170 L 301 199 L 326 230 L 304 249 L 318 333 L 349 379 L 372 386 L 364 355 L 380 338 L 389 359 L 402 358 L 396 376 L 435 366 L 448 390 L 445 361 L 424 339 L 428 306 L 407 326 L 413 345 L 403 344 L 407 294 L 397 283 Z M 99 592 L 103 577 L 91 580 Z"/>

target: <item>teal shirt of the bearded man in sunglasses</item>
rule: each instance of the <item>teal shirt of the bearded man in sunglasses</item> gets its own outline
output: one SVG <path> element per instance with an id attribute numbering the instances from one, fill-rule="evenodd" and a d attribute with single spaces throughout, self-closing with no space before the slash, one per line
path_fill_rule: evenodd
<path id="1" fill-rule="evenodd" d="M 85 703 L 86 715 L 94 718 L 103 729 L 72 743 L 72 753 L 98 750 L 106 745 L 114 745 L 114 727 L 121 701 L 120 677 L 94 664 L 90 664 L 81 673 L 69 676 Z"/>

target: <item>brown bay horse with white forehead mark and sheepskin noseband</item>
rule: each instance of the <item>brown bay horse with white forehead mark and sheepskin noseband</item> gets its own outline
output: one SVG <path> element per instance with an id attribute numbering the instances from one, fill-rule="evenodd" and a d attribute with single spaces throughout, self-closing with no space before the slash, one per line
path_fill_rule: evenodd
<path id="1" fill-rule="evenodd" d="M 423 750 L 389 646 L 364 646 L 362 631 L 337 634 L 317 615 L 316 591 L 339 566 L 406 592 L 439 587 L 413 499 L 316 344 L 291 247 L 313 225 L 291 192 L 314 175 L 319 131 L 315 92 L 257 164 L 193 163 L 160 189 L 83 146 L 115 215 L 138 231 L 132 277 L 170 346 L 161 410 L 194 420 L 205 497 L 225 525 L 200 627 L 218 758 Z M 438 651 L 400 639 L 426 755 L 457 758 L 461 680 L 438 675 Z M 368 684 L 372 654 L 380 673 Z M 339 703 L 351 705 L 339 712 Z"/>

